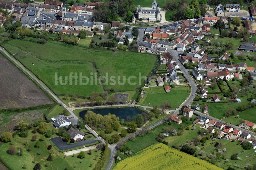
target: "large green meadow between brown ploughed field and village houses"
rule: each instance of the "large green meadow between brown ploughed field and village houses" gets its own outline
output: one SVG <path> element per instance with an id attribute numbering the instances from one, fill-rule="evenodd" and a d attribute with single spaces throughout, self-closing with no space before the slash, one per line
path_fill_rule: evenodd
<path id="1" fill-rule="evenodd" d="M 44 81 L 56 94 L 90 96 L 92 91 L 103 92 L 103 87 L 98 81 L 99 75 L 95 76 L 97 72 L 101 76 L 108 75 L 108 85 L 104 86 L 105 89 L 135 90 L 141 86 L 139 73 L 147 76 L 156 61 L 156 57 L 150 54 L 97 51 L 51 40 L 44 45 L 23 40 L 11 40 L 1 45 L 11 54 L 18 53 L 14 57 Z M 71 72 L 79 76 L 77 85 L 75 85 L 74 78 L 65 78 Z M 86 78 L 81 80 L 82 83 L 88 82 L 87 85 L 79 85 L 80 73 L 81 76 L 89 78 L 89 80 Z M 62 81 L 60 81 L 60 76 L 62 76 Z M 110 84 L 113 82 L 110 76 L 115 76 L 116 83 Z M 136 76 L 136 79 L 131 79 L 131 83 L 136 83 L 135 85 L 127 83 L 129 76 Z M 66 84 L 65 79 L 67 79 Z M 120 83 L 125 81 L 124 85 L 119 85 L 118 80 Z M 104 78 L 103 82 L 105 82 Z M 144 79 L 141 83 L 144 83 Z"/>

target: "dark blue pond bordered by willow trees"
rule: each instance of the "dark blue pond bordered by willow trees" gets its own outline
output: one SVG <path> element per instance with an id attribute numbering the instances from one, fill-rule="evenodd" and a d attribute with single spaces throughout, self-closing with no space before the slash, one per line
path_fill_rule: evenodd
<path id="1" fill-rule="evenodd" d="M 79 112 L 79 116 L 84 118 L 86 112 L 88 110 L 84 110 Z M 137 107 L 122 107 L 122 108 L 102 108 L 102 109 L 91 109 L 90 111 L 94 113 L 99 113 L 102 116 L 111 113 L 112 115 L 116 115 L 119 117 L 119 120 L 122 118 L 126 119 L 126 116 L 130 116 L 131 118 L 137 114 L 141 114 L 143 111 L 138 109 Z"/>

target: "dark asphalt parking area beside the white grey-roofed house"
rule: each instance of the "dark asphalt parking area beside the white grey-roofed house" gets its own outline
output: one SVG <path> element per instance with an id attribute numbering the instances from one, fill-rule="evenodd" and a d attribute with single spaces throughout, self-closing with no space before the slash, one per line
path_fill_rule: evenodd
<path id="1" fill-rule="evenodd" d="M 68 150 L 68 149 L 73 149 L 76 147 L 80 147 L 83 145 L 88 145 L 91 143 L 95 143 L 97 142 L 97 138 L 95 139 L 90 139 L 90 140 L 85 140 L 85 141 L 81 141 L 81 142 L 77 142 L 77 143 L 73 143 L 73 144 L 67 144 L 66 142 L 64 142 L 61 137 L 55 137 L 55 138 L 51 138 L 50 139 L 52 141 L 52 143 L 54 143 L 56 145 L 57 148 L 59 148 L 59 150 L 63 151 L 63 150 Z"/>

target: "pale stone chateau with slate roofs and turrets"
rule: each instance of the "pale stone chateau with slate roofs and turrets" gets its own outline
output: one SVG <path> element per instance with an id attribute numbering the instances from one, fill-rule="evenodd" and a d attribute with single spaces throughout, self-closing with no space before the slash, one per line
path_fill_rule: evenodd
<path id="1" fill-rule="evenodd" d="M 148 21 L 158 21 L 160 18 L 159 4 L 154 0 L 152 2 L 152 9 L 142 9 L 140 5 L 136 11 L 137 19 L 144 19 Z"/>

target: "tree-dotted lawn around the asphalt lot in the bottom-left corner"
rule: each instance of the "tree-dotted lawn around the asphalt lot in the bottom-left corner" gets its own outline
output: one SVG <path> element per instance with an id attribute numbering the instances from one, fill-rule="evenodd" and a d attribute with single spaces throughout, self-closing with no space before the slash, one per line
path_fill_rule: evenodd
<path id="1" fill-rule="evenodd" d="M 35 148 L 34 145 L 36 141 L 30 141 L 33 135 L 37 135 L 37 139 L 40 139 L 41 137 L 39 133 L 31 133 L 31 130 L 29 130 L 27 138 L 21 138 L 18 135 L 14 136 L 12 144 L 14 144 L 16 148 L 20 147 L 23 149 L 22 156 L 17 155 L 17 150 L 15 155 L 9 155 L 7 150 L 10 142 L 1 143 L 0 159 L 9 169 L 22 169 L 23 165 L 26 165 L 27 169 L 33 169 L 36 163 L 41 164 L 41 169 L 56 169 L 56 165 L 58 166 L 58 169 L 85 169 L 85 167 L 86 169 L 93 169 L 94 165 L 100 159 L 101 151 L 95 152 L 95 150 L 92 150 L 92 155 L 89 155 L 89 151 L 87 151 L 85 158 L 82 159 L 82 163 L 79 163 L 80 159 L 77 158 L 77 155 L 75 155 L 75 157 L 67 156 L 64 159 L 64 154 L 59 153 L 55 147 L 47 150 L 48 145 L 52 145 L 48 138 L 44 141 L 39 141 L 39 148 Z M 56 135 L 52 135 L 52 137 L 56 137 Z M 30 152 L 27 151 L 29 145 L 31 145 Z M 51 162 L 46 160 L 49 154 L 53 157 L 53 161 Z M 93 160 L 97 154 L 98 157 L 96 160 Z M 92 164 L 92 167 L 89 167 L 90 164 Z"/>

